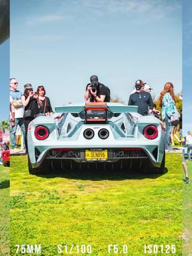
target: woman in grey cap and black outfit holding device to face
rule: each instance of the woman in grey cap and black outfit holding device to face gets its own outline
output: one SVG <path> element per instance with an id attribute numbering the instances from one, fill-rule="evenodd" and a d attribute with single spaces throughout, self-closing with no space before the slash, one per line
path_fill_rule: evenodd
<path id="1" fill-rule="evenodd" d="M 25 143 L 26 143 L 26 153 L 28 152 L 28 125 L 35 119 L 36 115 L 39 114 L 39 108 L 42 107 L 42 102 L 38 95 L 33 92 L 31 84 L 24 85 L 24 95 L 21 97 L 21 102 L 24 106 L 24 125 L 26 128 Z"/>

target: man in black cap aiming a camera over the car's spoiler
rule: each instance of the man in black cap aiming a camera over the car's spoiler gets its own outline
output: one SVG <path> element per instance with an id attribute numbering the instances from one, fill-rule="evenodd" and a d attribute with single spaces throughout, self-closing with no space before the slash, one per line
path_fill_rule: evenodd
<path id="1" fill-rule="evenodd" d="M 97 76 L 91 76 L 90 82 L 86 86 L 84 99 L 90 99 L 90 102 L 109 102 L 110 90 L 104 84 L 99 83 Z"/>

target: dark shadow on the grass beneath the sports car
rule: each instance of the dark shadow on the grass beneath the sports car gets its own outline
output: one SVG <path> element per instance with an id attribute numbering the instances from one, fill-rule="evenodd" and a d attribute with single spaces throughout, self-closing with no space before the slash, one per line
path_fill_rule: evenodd
<path id="1" fill-rule="evenodd" d="M 141 180 L 141 179 L 157 179 L 168 172 L 167 168 L 164 168 L 164 173 L 158 174 L 144 174 L 141 170 L 131 170 L 129 172 L 125 170 L 52 170 L 51 174 L 36 175 L 38 177 L 44 177 L 45 179 L 53 178 L 65 178 L 65 179 L 80 179 L 80 180 Z"/>

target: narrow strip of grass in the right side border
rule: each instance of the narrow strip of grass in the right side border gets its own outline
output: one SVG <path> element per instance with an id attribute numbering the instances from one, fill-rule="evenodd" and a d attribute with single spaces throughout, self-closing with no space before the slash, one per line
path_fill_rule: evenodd
<path id="1" fill-rule="evenodd" d="M 183 185 L 184 256 L 192 255 L 192 162 L 186 161 L 191 183 Z"/>

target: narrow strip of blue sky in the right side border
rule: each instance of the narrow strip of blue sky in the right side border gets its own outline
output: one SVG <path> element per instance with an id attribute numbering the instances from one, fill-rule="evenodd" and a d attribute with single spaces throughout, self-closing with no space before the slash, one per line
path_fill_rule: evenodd
<path id="1" fill-rule="evenodd" d="M 183 134 L 192 130 L 191 99 L 192 99 L 192 4 L 190 0 L 183 1 Z"/>

